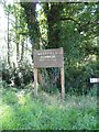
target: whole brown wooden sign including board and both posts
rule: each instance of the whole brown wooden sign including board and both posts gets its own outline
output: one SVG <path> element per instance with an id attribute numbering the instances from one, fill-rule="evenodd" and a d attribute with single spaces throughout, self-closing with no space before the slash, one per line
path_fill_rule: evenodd
<path id="1" fill-rule="evenodd" d="M 65 98 L 64 54 L 63 47 L 34 51 L 34 95 L 37 96 L 37 68 L 59 67 L 62 82 L 62 99 Z"/>

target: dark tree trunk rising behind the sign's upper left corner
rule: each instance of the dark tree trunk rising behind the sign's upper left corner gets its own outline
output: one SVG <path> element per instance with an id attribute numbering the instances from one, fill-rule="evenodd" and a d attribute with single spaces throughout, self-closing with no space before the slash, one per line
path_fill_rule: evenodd
<path id="1" fill-rule="evenodd" d="M 21 2 L 21 7 L 24 8 L 26 14 L 26 22 L 29 28 L 29 34 L 32 44 L 32 58 L 34 46 L 38 45 L 38 24 L 36 20 L 36 2 Z"/>

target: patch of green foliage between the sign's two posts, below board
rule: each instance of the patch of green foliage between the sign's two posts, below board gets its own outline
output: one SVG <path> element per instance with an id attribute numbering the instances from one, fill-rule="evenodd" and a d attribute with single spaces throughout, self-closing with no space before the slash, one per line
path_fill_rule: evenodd
<path id="1" fill-rule="evenodd" d="M 61 88 L 61 70 L 59 68 L 42 68 L 42 77 L 44 79 L 43 89 L 47 92 L 57 92 Z"/>

